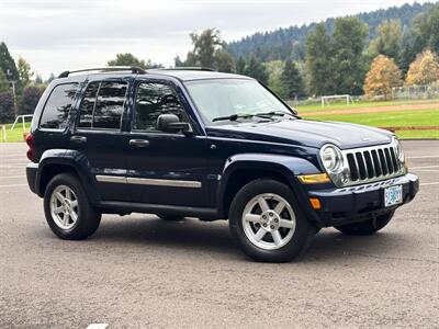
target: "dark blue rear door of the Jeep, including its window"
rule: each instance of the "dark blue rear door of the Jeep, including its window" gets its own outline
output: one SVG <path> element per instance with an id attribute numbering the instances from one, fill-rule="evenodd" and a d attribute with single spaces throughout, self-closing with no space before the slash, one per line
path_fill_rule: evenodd
<path id="1" fill-rule="evenodd" d="M 70 136 L 80 150 L 102 201 L 128 201 L 125 150 L 128 136 L 121 129 L 127 106 L 128 80 L 108 79 L 88 83 Z"/>

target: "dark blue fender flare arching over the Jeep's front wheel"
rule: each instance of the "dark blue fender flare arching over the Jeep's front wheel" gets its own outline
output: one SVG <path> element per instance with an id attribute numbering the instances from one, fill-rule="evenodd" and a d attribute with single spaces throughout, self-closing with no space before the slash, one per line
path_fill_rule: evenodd
<path id="1" fill-rule="evenodd" d="M 322 172 L 311 161 L 293 156 L 267 154 L 240 154 L 232 156 L 226 160 L 217 189 L 216 200 L 219 215 L 225 215 L 225 209 L 223 208 L 224 198 L 233 173 L 237 170 L 251 169 L 282 174 L 290 182 L 295 193 L 301 191 L 301 189 L 297 189 L 299 186 L 296 184 L 299 184 L 299 182 L 294 178 L 295 175 Z"/>

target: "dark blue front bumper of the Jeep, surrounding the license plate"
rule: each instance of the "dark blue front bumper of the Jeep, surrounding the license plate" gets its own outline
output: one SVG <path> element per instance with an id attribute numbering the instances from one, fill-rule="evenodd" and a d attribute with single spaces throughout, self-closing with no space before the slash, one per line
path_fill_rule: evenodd
<path id="1" fill-rule="evenodd" d="M 392 185 L 403 185 L 403 203 L 384 206 L 384 189 Z M 402 177 L 381 182 L 341 189 L 308 191 L 308 197 L 317 197 L 322 207 L 315 211 L 319 224 L 336 226 L 361 222 L 374 216 L 394 211 L 403 204 L 410 202 L 419 190 L 417 175 L 407 173 Z"/>

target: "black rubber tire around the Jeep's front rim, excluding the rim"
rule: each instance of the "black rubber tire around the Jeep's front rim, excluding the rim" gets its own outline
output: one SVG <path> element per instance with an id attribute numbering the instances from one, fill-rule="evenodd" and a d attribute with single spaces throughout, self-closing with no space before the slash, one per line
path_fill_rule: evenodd
<path id="1" fill-rule="evenodd" d="M 295 214 L 295 231 L 292 239 L 282 248 L 277 250 L 264 250 L 255 246 L 246 236 L 241 216 L 247 203 L 258 194 L 274 193 L 285 198 Z M 303 215 L 294 193 L 282 182 L 271 179 L 259 179 L 245 185 L 232 202 L 229 211 L 229 227 L 232 235 L 239 242 L 244 252 L 257 261 L 285 262 L 300 256 L 306 248 L 309 237 L 314 236 L 316 229 Z"/>

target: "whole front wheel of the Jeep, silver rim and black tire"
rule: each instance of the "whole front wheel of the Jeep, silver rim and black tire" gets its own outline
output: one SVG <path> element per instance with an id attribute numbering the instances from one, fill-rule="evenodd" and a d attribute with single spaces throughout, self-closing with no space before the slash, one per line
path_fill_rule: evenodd
<path id="1" fill-rule="evenodd" d="M 293 260 L 317 231 L 305 218 L 291 189 L 271 179 L 255 180 L 238 191 L 230 205 L 229 228 L 243 251 L 261 262 Z"/>

